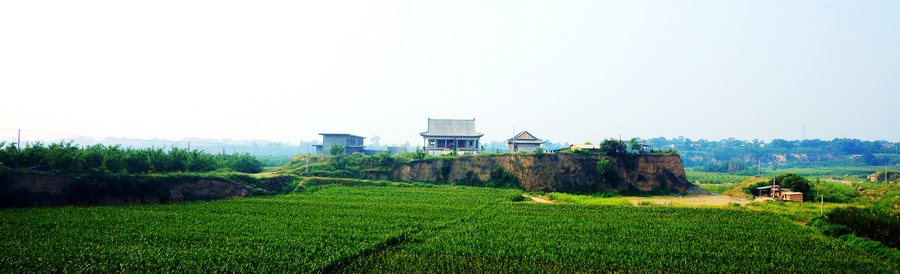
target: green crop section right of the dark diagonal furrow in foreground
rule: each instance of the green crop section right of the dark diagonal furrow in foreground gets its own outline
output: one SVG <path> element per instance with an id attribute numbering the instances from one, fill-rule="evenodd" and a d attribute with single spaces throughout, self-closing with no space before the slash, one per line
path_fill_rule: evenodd
<path id="1" fill-rule="evenodd" d="M 896 264 L 765 212 L 492 205 L 473 220 L 362 258 L 344 273 L 891 273 Z"/>

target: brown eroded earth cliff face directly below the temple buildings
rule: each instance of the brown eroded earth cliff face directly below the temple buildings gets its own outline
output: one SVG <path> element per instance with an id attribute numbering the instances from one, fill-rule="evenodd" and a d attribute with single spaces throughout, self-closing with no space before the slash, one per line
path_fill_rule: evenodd
<path id="1" fill-rule="evenodd" d="M 604 182 L 597 162 L 608 159 L 619 180 Z M 527 191 L 650 191 L 690 187 L 678 155 L 635 155 L 622 158 L 593 154 L 487 155 L 437 158 L 394 166 L 390 173 L 369 172 L 373 179 L 446 182 L 477 178 L 487 181 L 501 167 Z"/>

